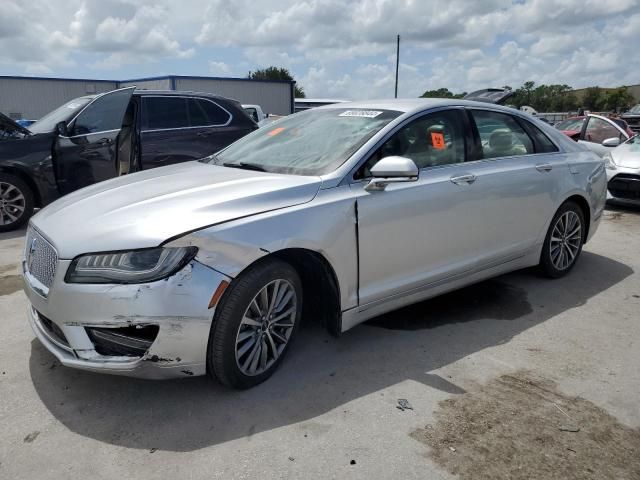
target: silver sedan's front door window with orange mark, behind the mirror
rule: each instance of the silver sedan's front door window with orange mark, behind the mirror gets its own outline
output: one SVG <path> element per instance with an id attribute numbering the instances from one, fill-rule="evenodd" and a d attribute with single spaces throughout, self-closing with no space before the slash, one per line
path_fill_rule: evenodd
<path id="1" fill-rule="evenodd" d="M 465 137 L 460 112 L 431 113 L 404 126 L 367 160 L 355 178 L 370 177 L 371 168 L 391 156 L 410 158 L 420 169 L 464 162 Z"/>

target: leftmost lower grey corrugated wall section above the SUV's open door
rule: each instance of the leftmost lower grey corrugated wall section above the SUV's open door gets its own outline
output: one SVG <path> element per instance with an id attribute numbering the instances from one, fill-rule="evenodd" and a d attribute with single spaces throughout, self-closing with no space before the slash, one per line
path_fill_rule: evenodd
<path id="1" fill-rule="evenodd" d="M 69 100 L 116 86 L 116 82 L 105 81 L 0 77 L 0 112 L 37 120 Z"/>

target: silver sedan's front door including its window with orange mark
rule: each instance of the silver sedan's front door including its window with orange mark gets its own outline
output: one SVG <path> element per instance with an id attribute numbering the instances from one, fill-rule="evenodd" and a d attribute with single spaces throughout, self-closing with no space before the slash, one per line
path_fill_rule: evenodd
<path id="1" fill-rule="evenodd" d="M 465 183 L 468 173 L 464 111 L 444 110 L 401 128 L 361 167 L 357 198 L 360 304 L 408 292 L 456 271 L 472 260 L 473 227 Z M 398 155 L 420 169 L 415 182 L 365 190 L 370 168 Z M 454 183 L 455 180 L 458 183 Z"/>

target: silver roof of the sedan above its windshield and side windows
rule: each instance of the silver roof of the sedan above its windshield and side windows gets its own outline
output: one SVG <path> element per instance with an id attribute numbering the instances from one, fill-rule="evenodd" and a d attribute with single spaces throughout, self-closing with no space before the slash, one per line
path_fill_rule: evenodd
<path id="1" fill-rule="evenodd" d="M 396 110 L 403 113 L 416 113 L 429 108 L 438 107 L 480 107 L 495 108 L 506 113 L 522 114 L 514 108 L 497 105 L 488 102 L 475 102 L 472 100 L 460 100 L 456 98 L 391 98 L 388 100 L 362 100 L 356 102 L 344 102 L 317 107 L 318 109 L 332 108 L 366 108 L 372 110 Z"/>

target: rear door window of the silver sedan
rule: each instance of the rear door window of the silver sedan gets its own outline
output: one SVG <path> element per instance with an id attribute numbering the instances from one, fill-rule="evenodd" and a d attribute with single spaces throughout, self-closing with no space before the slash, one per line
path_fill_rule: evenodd
<path id="1" fill-rule="evenodd" d="M 488 110 L 470 112 L 478 127 L 484 158 L 535 153 L 533 141 L 511 115 Z"/>

